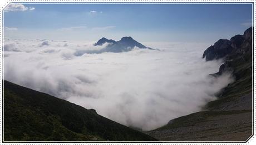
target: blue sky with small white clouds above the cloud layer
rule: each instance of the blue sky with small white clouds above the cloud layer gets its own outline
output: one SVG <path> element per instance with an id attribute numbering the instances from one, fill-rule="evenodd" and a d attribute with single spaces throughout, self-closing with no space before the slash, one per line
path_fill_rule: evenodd
<path id="1" fill-rule="evenodd" d="M 140 42 L 230 39 L 252 23 L 252 4 L 17 4 L 4 12 L 8 38 Z"/>

